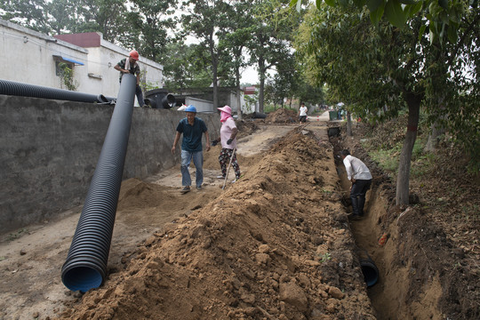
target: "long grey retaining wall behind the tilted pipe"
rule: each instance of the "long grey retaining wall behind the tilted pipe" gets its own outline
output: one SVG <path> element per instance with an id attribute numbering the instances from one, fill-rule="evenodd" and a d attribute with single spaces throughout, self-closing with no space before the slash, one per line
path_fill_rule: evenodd
<path id="1" fill-rule="evenodd" d="M 0 234 L 84 203 L 113 108 L 0 95 Z M 144 179 L 180 162 L 171 148 L 184 116 L 134 108 L 124 179 Z M 197 116 L 217 137 L 219 116 Z"/>

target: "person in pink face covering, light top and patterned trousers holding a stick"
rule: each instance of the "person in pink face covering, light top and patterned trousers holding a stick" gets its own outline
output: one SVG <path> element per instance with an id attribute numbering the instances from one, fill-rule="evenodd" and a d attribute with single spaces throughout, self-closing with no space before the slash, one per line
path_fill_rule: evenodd
<path id="1" fill-rule="evenodd" d="M 238 129 L 236 128 L 235 120 L 232 117 L 232 109 L 228 106 L 218 109 L 220 110 L 221 122 L 220 137 L 216 140 L 213 140 L 214 146 L 221 142 L 221 151 L 219 156 L 221 175 L 217 178 L 225 179 L 227 176 L 227 165 L 231 159 L 232 167 L 234 168 L 236 177 L 233 182 L 236 182 L 236 180 L 240 179 L 240 166 L 236 161 L 235 154 L 236 134 L 238 133 Z"/>

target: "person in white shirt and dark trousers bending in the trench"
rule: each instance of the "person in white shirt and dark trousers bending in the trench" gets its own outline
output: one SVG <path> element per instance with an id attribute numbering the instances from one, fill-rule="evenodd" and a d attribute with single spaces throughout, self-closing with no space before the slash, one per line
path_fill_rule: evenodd
<path id="1" fill-rule="evenodd" d="M 367 166 L 350 152 L 345 149 L 341 151 L 343 164 L 347 170 L 348 180 L 352 182 L 350 188 L 350 199 L 352 200 L 353 218 L 359 218 L 364 215 L 365 195 L 372 186 L 372 173 Z"/>

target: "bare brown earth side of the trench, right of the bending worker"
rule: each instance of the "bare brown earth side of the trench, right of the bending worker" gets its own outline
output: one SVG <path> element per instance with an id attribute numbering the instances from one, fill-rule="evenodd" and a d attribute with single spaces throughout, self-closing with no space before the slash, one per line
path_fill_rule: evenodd
<path id="1" fill-rule="evenodd" d="M 465 255 L 429 217 L 431 213 L 420 205 L 395 205 L 392 181 L 372 162 L 358 137 L 343 135 L 333 137 L 331 142 L 335 154 L 348 148 L 372 171 L 365 216 L 350 221 L 350 227 L 356 247 L 368 252 L 379 270 L 378 283 L 367 289 L 377 318 L 478 318 L 478 277 L 459 263 Z M 340 157 L 335 160 L 342 202 L 351 212 L 350 182 Z"/>

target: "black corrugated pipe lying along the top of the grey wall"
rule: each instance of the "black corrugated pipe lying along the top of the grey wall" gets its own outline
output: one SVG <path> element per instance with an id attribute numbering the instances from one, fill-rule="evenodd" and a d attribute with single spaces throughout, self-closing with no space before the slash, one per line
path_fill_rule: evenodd
<path id="1" fill-rule="evenodd" d="M 68 100 L 78 102 L 112 103 L 115 98 L 105 97 L 103 94 L 94 95 L 82 92 L 49 88 L 34 84 L 22 84 L 0 79 L 0 94 L 21 97 L 44 98 L 52 100 Z"/>

